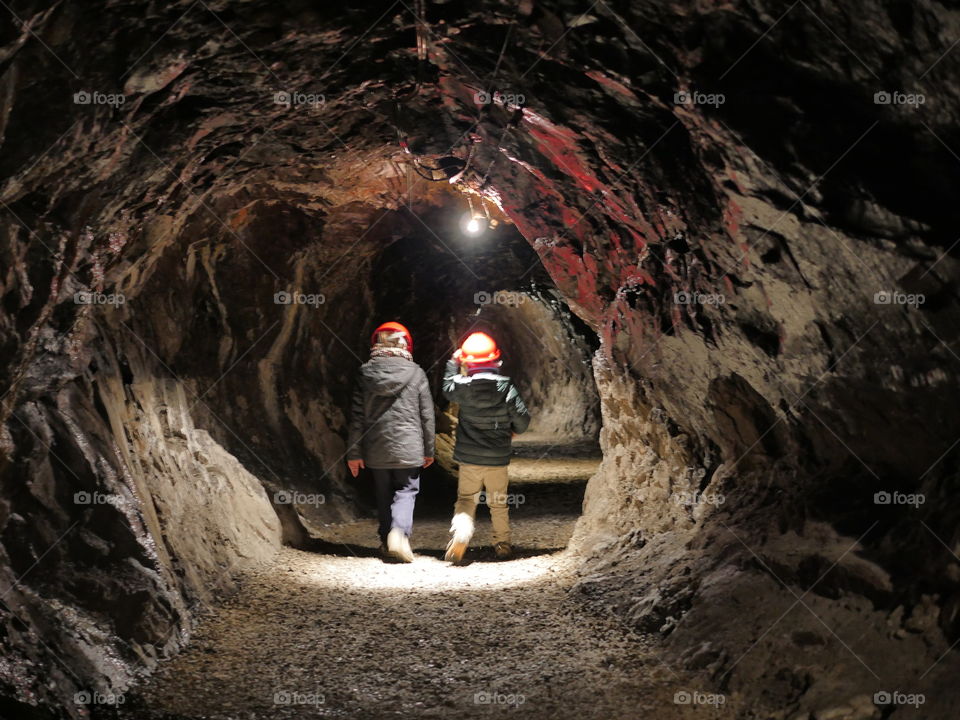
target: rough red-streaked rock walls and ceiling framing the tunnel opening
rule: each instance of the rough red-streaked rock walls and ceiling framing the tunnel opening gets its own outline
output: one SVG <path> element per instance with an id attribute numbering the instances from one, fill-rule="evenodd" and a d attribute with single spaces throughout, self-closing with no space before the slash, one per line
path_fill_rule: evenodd
<path id="1" fill-rule="evenodd" d="M 86 552 L 140 588 L 129 633 L 185 623 L 186 585 L 151 559 L 163 543 L 148 513 L 97 506 L 109 521 L 90 527 L 109 541 L 81 523 L 57 542 L 75 487 L 135 486 L 134 440 L 111 440 L 108 407 L 133 417 L 142 397 L 169 418 L 181 393 L 202 395 L 187 414 L 207 435 L 171 435 L 161 465 L 216 476 L 231 464 L 216 443 L 271 500 L 324 493 L 277 505 L 289 541 L 351 511 L 343 407 L 385 293 L 370 271 L 411 228 L 450 239 L 433 230 L 444 187 L 458 214 L 469 194 L 512 222 L 599 338 L 605 460 L 575 541 L 584 600 L 661 633 L 670 662 L 760 716 L 869 717 L 863 697 L 897 683 L 949 716 L 956 9 L 427 8 L 418 23 L 406 8 L 15 3 L 27 24 L 0 29 L 2 538 L 9 580 L 37 559 L 43 572 L 4 600 L 6 694 L 54 702 L 30 679 L 30 662 L 51 664 L 41 636 L 85 682 L 129 674 L 89 659 L 116 645 L 112 616 L 91 623 L 100 640 L 52 626 L 56 588 L 63 607 L 92 607 L 48 587 Z M 76 104 L 84 91 L 125 102 Z M 129 302 L 78 306 L 81 289 Z M 478 289 L 492 288 L 451 305 Z M 325 302 L 273 302 L 291 291 Z M 123 413 L 119 387 L 109 403 L 94 390 L 116 382 L 111 353 Z M 142 417 L 143 437 L 167 432 Z M 237 482 L 244 524 L 270 536 Z M 894 492 L 927 502 L 884 503 Z M 183 512 L 189 497 L 156 505 Z M 184 542 L 184 577 L 206 577 L 214 551 Z M 51 666 L 58 688 L 76 684 Z"/>

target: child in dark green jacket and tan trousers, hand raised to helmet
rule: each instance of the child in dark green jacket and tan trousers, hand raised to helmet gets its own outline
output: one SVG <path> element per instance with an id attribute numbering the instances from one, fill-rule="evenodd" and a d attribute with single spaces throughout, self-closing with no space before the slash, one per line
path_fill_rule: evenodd
<path id="1" fill-rule="evenodd" d="M 443 395 L 457 403 L 457 441 L 453 459 L 460 463 L 452 537 L 444 559 L 459 564 L 473 537 L 480 493 L 486 495 L 498 559 L 513 555 L 507 507 L 507 467 L 513 436 L 530 424 L 520 391 L 500 374 L 502 360 L 496 342 L 486 333 L 470 335 L 447 362 Z"/>

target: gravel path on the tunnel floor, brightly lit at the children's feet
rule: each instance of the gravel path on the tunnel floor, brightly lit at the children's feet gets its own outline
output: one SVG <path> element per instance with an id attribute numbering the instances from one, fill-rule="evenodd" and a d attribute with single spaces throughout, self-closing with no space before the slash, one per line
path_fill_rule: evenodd
<path id="1" fill-rule="evenodd" d="M 574 562 L 557 548 L 582 486 L 535 476 L 511 488 L 532 497 L 513 515 L 523 551 L 509 562 L 481 548 L 465 567 L 444 563 L 445 515 L 418 518 L 409 565 L 375 556 L 372 520 L 330 529 L 341 554 L 284 549 L 135 693 L 129 716 L 683 717 L 676 677 L 566 599 Z M 488 532 L 481 520 L 481 545 Z"/>

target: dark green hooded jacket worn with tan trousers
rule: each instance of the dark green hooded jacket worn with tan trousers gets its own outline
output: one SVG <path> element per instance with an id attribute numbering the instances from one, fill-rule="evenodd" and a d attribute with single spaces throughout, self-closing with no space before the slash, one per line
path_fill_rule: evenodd
<path id="1" fill-rule="evenodd" d="M 453 459 L 472 465 L 509 465 L 513 433 L 530 424 L 530 413 L 513 381 L 482 372 L 460 374 L 456 360 L 447 361 L 443 396 L 460 406 Z"/>

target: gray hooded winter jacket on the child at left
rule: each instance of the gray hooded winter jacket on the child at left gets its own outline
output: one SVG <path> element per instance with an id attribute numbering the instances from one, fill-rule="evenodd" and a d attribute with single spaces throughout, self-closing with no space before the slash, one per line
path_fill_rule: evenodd
<path id="1" fill-rule="evenodd" d="M 353 391 L 347 459 L 368 468 L 412 468 L 433 457 L 433 397 L 415 362 L 376 357 L 360 366 Z"/>

